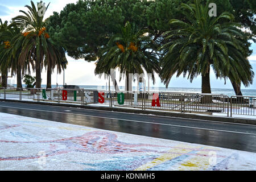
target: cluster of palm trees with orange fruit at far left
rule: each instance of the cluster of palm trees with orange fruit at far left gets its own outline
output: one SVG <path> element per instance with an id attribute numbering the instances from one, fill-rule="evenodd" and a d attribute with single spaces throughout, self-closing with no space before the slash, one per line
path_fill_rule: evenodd
<path id="1" fill-rule="evenodd" d="M 49 6 L 49 5 L 48 5 Z M 48 8 L 47 6 L 47 8 Z M 57 67 L 57 72 L 65 68 L 65 50 L 52 44 L 47 33 L 47 20 L 38 13 L 38 6 L 31 1 L 28 11 L 20 12 L 12 22 L 2 23 L 0 19 L 0 68 L 2 86 L 7 86 L 7 73 L 16 74 L 17 87 L 22 88 L 22 75 L 26 72 L 36 72 L 36 88 L 41 88 L 41 72 L 47 69 L 47 88 L 51 88 L 51 74 Z M 46 9 L 47 10 L 47 9 Z"/>

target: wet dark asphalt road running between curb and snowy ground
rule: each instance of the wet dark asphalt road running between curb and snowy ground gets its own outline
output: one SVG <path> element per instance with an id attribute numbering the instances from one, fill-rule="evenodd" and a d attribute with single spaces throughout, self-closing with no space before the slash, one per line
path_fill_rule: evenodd
<path id="1" fill-rule="evenodd" d="M 255 125 L 4 101 L 0 101 L 0 113 L 256 152 Z"/>

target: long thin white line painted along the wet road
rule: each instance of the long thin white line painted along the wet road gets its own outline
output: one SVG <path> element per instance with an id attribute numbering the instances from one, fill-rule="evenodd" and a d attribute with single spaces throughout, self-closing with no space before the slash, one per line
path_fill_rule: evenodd
<path id="1" fill-rule="evenodd" d="M 86 114 L 61 113 L 61 112 L 58 112 L 58 111 L 46 111 L 46 110 L 38 110 L 38 109 L 26 109 L 26 108 L 20 108 L 20 107 L 12 107 L 12 106 L 0 106 L 0 107 L 10 107 L 10 108 L 14 108 L 14 109 L 35 110 L 35 111 L 49 112 L 49 113 L 80 115 L 80 116 L 93 117 L 93 118 L 115 119 L 115 120 L 123 120 L 123 121 L 131 121 L 131 122 L 140 122 L 140 123 L 148 123 L 148 124 L 155 124 L 155 125 L 185 127 L 185 128 L 191 128 L 191 129 L 223 131 L 223 132 L 228 132 L 228 133 L 239 133 L 239 134 L 247 134 L 247 135 L 256 135 L 256 134 L 253 134 L 253 133 L 243 133 L 243 132 L 238 132 L 238 131 L 206 129 L 206 128 L 192 127 L 192 126 L 181 126 L 181 125 L 171 125 L 171 124 L 164 124 L 164 123 L 154 123 L 154 122 L 146 122 L 146 121 L 136 121 L 136 120 L 130 120 L 130 119 L 118 119 L 118 118 L 99 117 L 99 116 L 95 116 L 95 115 L 86 115 Z"/>

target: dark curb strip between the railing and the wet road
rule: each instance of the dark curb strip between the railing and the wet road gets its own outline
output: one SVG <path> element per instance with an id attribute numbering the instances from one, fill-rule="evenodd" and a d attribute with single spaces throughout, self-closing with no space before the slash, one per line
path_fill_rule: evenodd
<path id="1" fill-rule="evenodd" d="M 172 113 L 172 112 L 163 112 L 163 111 L 154 111 L 154 110 L 137 110 L 137 109 L 116 108 L 116 107 L 84 106 L 84 105 L 57 104 L 57 103 L 47 103 L 47 102 L 17 101 L 17 100 L 4 100 L 4 99 L 0 99 L 0 101 L 19 102 L 19 103 L 36 104 L 36 105 L 75 107 L 75 108 L 93 109 L 93 110 L 117 111 L 117 112 L 134 113 L 134 114 L 152 114 L 152 115 L 164 116 L 164 117 L 175 117 L 175 118 L 183 118 L 183 119 L 200 119 L 205 121 L 218 121 L 218 122 L 256 125 L 256 119 L 249 119 L 249 118 L 248 119 L 247 118 L 228 118 L 228 117 L 216 117 L 216 116 L 188 114 L 188 113 Z"/>

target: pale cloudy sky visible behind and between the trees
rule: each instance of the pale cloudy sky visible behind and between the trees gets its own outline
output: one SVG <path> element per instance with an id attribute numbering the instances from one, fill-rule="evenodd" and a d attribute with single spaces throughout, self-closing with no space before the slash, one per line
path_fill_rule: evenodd
<path id="1" fill-rule="evenodd" d="M 53 11 L 60 12 L 63 10 L 65 5 L 67 3 L 75 3 L 77 0 L 45 0 L 46 4 L 49 2 L 49 8 L 46 12 L 46 18 L 50 15 L 52 15 Z M 34 2 L 39 2 L 34 1 Z M 10 21 L 11 18 L 13 18 L 16 15 L 19 15 L 19 10 L 26 10 L 25 5 L 30 5 L 30 1 L 28 0 L 0 0 L 0 18 L 2 21 L 8 20 Z M 253 49 L 253 54 L 249 57 L 250 63 L 253 66 L 253 70 L 256 73 L 256 44 L 253 43 L 251 46 L 251 49 Z M 68 66 L 67 70 L 65 70 L 65 83 L 68 85 L 106 85 L 106 80 L 104 80 L 104 77 L 99 78 L 98 76 L 94 75 L 94 63 L 88 63 L 85 60 L 75 60 L 72 57 L 68 57 Z M 230 81 L 226 82 L 226 85 L 224 84 L 224 80 L 216 79 L 216 77 L 213 74 L 213 71 L 210 75 L 210 84 L 212 88 L 227 88 L 232 89 L 232 85 L 230 84 Z M 35 75 L 33 73 L 32 75 Z M 42 84 L 46 84 L 46 71 L 43 70 L 42 73 Z M 15 78 L 14 78 L 15 79 Z M 52 75 L 52 84 L 55 85 L 56 82 L 58 82 L 59 85 L 63 84 L 63 73 L 61 75 L 57 76 L 57 73 L 53 73 Z M 15 82 L 16 83 L 16 79 Z M 124 81 L 121 81 L 121 85 L 124 85 Z M 152 86 L 152 84 L 151 84 Z M 156 78 L 155 86 L 164 86 L 161 82 L 159 77 Z M 172 78 L 169 87 L 181 87 L 181 88 L 200 88 L 201 87 L 201 77 L 197 77 L 192 83 L 187 80 L 187 78 L 183 78 L 183 76 L 179 78 Z M 242 86 L 242 89 L 244 87 Z M 254 84 L 251 85 L 247 89 L 256 89 L 256 81 L 254 81 Z"/>

